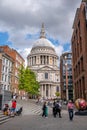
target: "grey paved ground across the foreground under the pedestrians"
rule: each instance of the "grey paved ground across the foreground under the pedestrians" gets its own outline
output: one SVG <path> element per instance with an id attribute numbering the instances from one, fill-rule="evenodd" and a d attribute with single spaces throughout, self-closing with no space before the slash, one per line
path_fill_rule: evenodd
<path id="1" fill-rule="evenodd" d="M 24 104 L 27 104 L 27 102 L 25 102 Z M 37 106 L 38 108 L 38 105 L 35 106 Z M 26 110 L 27 112 L 29 111 L 28 104 Z M 86 130 L 87 129 L 87 116 L 74 116 L 73 121 L 70 121 L 68 118 L 67 111 L 64 110 L 62 110 L 62 118 L 59 117 L 54 118 L 52 113 L 49 113 L 48 118 L 45 118 L 39 114 L 33 114 L 33 113 L 30 114 L 27 112 L 25 114 L 23 113 L 23 115 L 21 116 L 11 118 L 11 120 L 2 124 L 0 126 L 0 129 L 1 130 L 58 130 L 58 129 Z"/>

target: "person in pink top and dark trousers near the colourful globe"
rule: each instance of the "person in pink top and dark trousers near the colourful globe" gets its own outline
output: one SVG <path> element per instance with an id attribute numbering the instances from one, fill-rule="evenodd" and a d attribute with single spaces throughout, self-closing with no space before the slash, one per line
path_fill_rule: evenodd
<path id="1" fill-rule="evenodd" d="M 72 100 L 69 100 L 69 102 L 67 104 L 67 108 L 68 108 L 68 113 L 69 113 L 69 119 L 72 121 L 73 120 L 73 111 L 74 111 L 74 104 L 73 104 Z"/>

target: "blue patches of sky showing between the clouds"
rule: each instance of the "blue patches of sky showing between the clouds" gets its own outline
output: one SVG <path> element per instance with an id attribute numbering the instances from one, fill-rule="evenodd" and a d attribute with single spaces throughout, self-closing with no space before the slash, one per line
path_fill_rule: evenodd
<path id="1" fill-rule="evenodd" d="M 36 41 L 37 39 L 39 39 L 40 37 L 40 32 L 37 32 L 36 34 L 26 34 L 25 40 L 33 40 Z M 57 46 L 60 44 L 58 39 L 54 39 L 52 37 L 50 37 L 49 35 L 46 35 L 46 38 L 52 42 L 52 44 L 54 46 Z M 0 32 L 0 45 L 8 45 L 10 47 L 12 47 L 13 43 L 12 41 L 9 41 L 9 34 L 8 32 Z M 67 45 L 71 45 L 71 43 L 65 43 L 64 45 L 64 51 L 70 50 L 69 47 Z"/>

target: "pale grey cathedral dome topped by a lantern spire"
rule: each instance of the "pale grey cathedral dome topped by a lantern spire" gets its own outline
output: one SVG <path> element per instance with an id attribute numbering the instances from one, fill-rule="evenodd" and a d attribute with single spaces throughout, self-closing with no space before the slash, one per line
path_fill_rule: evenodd
<path id="1" fill-rule="evenodd" d="M 56 55 L 54 45 L 48 39 L 46 39 L 44 24 L 42 24 L 40 38 L 33 43 L 33 47 L 31 49 L 30 54 L 31 55 L 32 54 L 33 55 L 36 55 L 36 54 Z"/>

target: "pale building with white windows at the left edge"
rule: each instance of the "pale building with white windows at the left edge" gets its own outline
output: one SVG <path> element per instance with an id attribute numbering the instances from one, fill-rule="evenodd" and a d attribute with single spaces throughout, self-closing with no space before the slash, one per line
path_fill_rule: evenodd
<path id="1" fill-rule="evenodd" d="M 14 61 L 7 54 L 0 52 L 0 108 L 11 100 L 12 77 L 9 72 L 13 71 Z"/>

